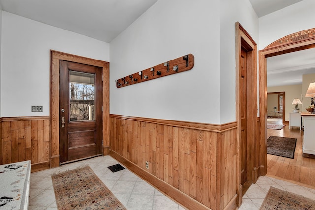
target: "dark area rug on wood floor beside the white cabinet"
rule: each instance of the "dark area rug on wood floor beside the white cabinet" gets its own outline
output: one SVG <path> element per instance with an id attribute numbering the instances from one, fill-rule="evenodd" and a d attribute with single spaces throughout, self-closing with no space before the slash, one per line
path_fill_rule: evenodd
<path id="1" fill-rule="evenodd" d="M 269 136 L 267 139 L 267 154 L 294 159 L 295 146 L 296 139 L 294 138 Z"/>

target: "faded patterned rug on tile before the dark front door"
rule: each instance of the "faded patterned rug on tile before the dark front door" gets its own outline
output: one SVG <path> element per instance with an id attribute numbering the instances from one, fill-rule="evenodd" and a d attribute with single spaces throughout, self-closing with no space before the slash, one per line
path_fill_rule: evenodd
<path id="1" fill-rule="evenodd" d="M 58 210 L 126 210 L 90 166 L 51 177 Z"/>

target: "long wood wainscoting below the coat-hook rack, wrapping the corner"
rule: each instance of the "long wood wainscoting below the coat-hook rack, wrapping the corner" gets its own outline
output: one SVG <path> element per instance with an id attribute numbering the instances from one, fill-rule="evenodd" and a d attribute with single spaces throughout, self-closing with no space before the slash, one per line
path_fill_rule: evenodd
<path id="1" fill-rule="evenodd" d="M 127 162 L 127 167 L 145 180 L 150 175 L 150 183 L 162 191 L 170 187 L 178 190 L 180 193 L 163 192 L 188 208 L 195 204 L 186 204 L 185 196 L 202 204 L 199 207 L 235 209 L 239 184 L 237 123 L 178 124 L 110 115 L 110 155 Z M 152 176 L 160 180 L 158 185 Z"/>

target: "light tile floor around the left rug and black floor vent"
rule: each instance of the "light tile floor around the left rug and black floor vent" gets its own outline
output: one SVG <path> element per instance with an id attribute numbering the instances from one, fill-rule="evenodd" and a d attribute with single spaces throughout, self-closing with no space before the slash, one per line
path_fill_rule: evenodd
<path id="1" fill-rule="evenodd" d="M 127 210 L 185 210 L 126 167 L 111 172 L 117 162 L 110 156 L 95 157 L 31 174 L 29 210 L 57 210 L 51 174 L 89 165 Z"/>

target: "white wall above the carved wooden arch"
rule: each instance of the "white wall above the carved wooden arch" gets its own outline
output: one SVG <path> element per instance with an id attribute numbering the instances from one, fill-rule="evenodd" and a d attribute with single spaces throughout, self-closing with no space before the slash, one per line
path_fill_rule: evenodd
<path id="1" fill-rule="evenodd" d="M 289 34 L 314 28 L 315 0 L 303 0 L 259 18 L 259 49 Z"/>

